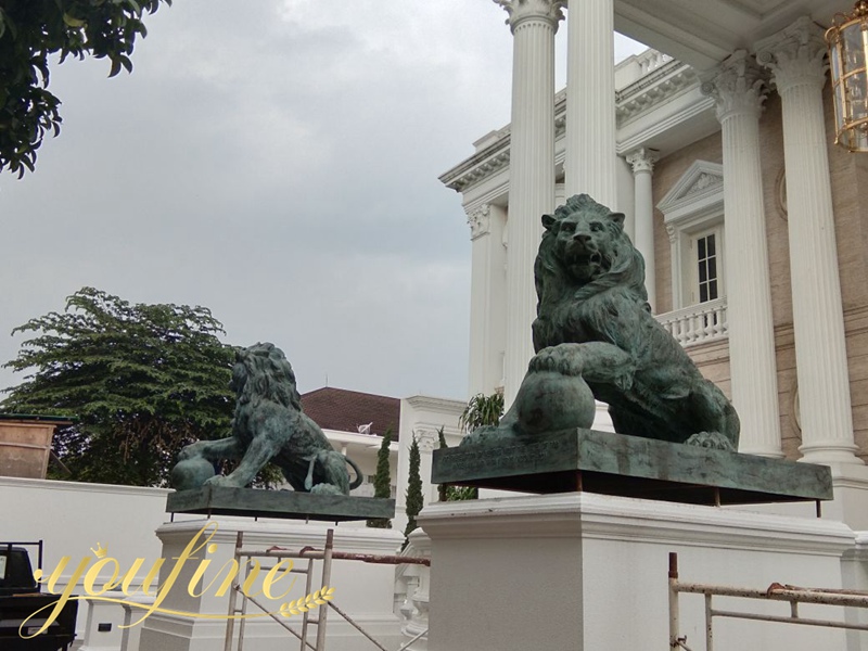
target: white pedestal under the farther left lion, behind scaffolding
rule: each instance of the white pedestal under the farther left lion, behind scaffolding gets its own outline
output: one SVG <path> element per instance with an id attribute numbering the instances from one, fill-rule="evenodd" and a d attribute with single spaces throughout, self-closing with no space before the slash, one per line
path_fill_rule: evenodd
<path id="1" fill-rule="evenodd" d="M 214 520 L 213 520 L 214 521 Z M 161 604 L 165 610 L 176 610 L 193 613 L 216 614 L 217 618 L 196 618 L 187 615 L 154 613 L 141 624 L 140 651 L 214 651 L 222 649 L 226 636 L 226 615 L 228 609 L 228 593 L 221 598 L 214 592 L 222 580 L 225 573 L 219 572 L 224 563 L 231 560 L 234 553 L 235 537 L 238 532 L 244 532 L 244 548 L 267 549 L 271 546 L 284 547 L 297 551 L 302 547 L 310 546 L 322 549 L 326 544 L 326 532 L 334 528 L 334 549 L 356 553 L 394 554 L 399 549 L 404 536 L 392 529 L 372 529 L 353 526 L 340 526 L 323 523 L 301 522 L 253 522 L 238 519 L 216 519 L 218 529 L 212 538 L 217 544 L 213 553 L 205 558 L 212 563 L 205 572 L 207 585 L 215 576 L 221 577 L 215 586 L 202 597 L 191 597 L 187 586 L 192 577 L 199 560 L 188 561 L 176 580 L 174 588 Z M 190 520 L 167 523 L 161 526 L 156 535 L 163 541 L 163 558 L 167 559 L 161 571 L 161 585 L 164 585 L 168 573 L 173 570 L 174 558 L 177 558 L 188 545 L 190 539 L 202 528 L 207 520 Z M 200 559 L 203 554 L 199 554 Z M 259 559 L 263 567 L 273 564 L 269 559 Z M 296 560 L 296 567 L 304 567 L 307 561 Z M 312 589 L 321 587 L 321 563 L 317 562 L 314 570 Z M 256 590 L 261 589 L 260 573 Z M 332 564 L 330 586 L 335 588 L 334 603 L 358 622 L 374 638 L 385 646 L 397 648 L 401 640 L 400 622 L 394 614 L 394 575 L 393 565 L 373 565 L 359 561 L 335 560 Z M 265 602 L 277 611 L 285 601 L 295 600 L 305 596 L 305 575 L 297 574 L 297 580 L 290 593 L 277 601 L 268 601 L 263 596 L 257 600 Z M 285 588 L 284 583 L 277 584 L 275 592 L 279 593 Z M 199 586 L 201 589 L 201 584 Z M 241 605 L 239 599 L 238 605 Z M 324 608 L 324 607 L 323 607 Z M 248 603 L 248 613 L 258 612 L 258 609 Z M 133 621 L 136 618 L 133 612 Z M 284 620 L 286 624 L 301 629 L 301 616 Z M 328 648 L 329 651 L 353 651 L 363 644 L 370 644 L 357 630 L 352 628 L 334 611 L 328 616 Z M 235 626 L 238 635 L 238 626 Z M 308 641 L 316 641 L 316 627 L 310 626 Z M 244 633 L 245 651 L 266 651 L 277 648 L 297 649 L 301 642 L 290 633 L 285 631 L 270 618 L 247 621 Z"/>

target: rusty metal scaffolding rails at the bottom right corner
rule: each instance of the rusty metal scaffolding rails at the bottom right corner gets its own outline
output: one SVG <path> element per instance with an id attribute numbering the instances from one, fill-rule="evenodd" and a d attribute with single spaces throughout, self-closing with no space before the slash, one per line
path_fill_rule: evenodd
<path id="1" fill-rule="evenodd" d="M 868 592 L 844 589 L 800 588 L 796 586 L 773 583 L 765 590 L 716 586 L 710 584 L 681 583 L 678 580 L 678 554 L 669 553 L 669 649 L 685 649 L 687 636 L 680 634 L 678 595 L 688 592 L 705 596 L 705 651 L 714 651 L 714 617 L 732 617 L 738 620 L 757 620 L 782 624 L 803 624 L 807 626 L 826 626 L 829 628 L 847 628 L 851 630 L 868 630 L 868 624 L 848 624 L 837 620 L 819 620 L 802 617 L 799 614 L 800 603 L 825 605 L 843 605 L 850 608 L 868 608 Z M 786 601 L 790 604 L 789 616 L 764 615 L 740 611 L 718 610 L 714 608 L 713 598 L 740 597 L 742 599 L 760 599 L 764 601 Z"/>

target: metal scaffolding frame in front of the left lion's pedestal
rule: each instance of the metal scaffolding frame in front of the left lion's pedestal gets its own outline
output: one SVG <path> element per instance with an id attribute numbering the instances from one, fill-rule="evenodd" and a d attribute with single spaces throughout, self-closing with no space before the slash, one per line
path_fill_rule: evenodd
<path id="1" fill-rule="evenodd" d="M 361 561 L 365 563 L 379 563 L 379 564 L 387 564 L 387 565 L 400 565 L 405 563 L 410 564 L 418 564 L 418 565 L 431 565 L 431 560 L 420 557 L 403 557 L 403 556 L 383 556 L 383 554 L 368 554 L 368 553 L 350 553 L 345 551 L 335 551 L 334 550 L 334 529 L 328 529 L 326 533 L 326 546 L 323 549 L 315 549 L 312 547 L 303 547 L 297 551 L 288 550 L 281 547 L 271 547 L 267 550 L 260 549 L 245 549 L 243 546 L 244 542 L 244 533 L 239 532 L 235 538 L 235 552 L 234 552 L 234 560 L 238 563 L 240 569 L 239 573 L 232 580 L 231 589 L 229 592 L 229 609 L 228 609 L 228 618 L 226 623 L 226 639 L 224 643 L 224 651 L 233 651 L 233 642 L 235 641 L 235 617 L 239 617 L 239 625 L 238 625 L 238 644 L 235 646 L 235 651 L 243 651 L 244 648 L 244 628 L 246 618 L 244 615 L 247 614 L 247 602 L 250 601 L 256 608 L 261 610 L 266 613 L 269 617 L 271 617 L 275 622 L 280 624 L 288 633 L 293 635 L 297 638 L 301 642 L 301 651 L 307 651 L 307 649 L 312 649 L 314 651 L 326 651 L 326 624 L 328 620 L 329 609 L 336 612 L 341 617 L 343 617 L 350 626 L 353 626 L 356 630 L 358 630 L 365 638 L 367 638 L 374 647 L 380 649 L 380 651 L 390 651 L 383 644 L 381 644 L 376 639 L 374 639 L 368 631 L 366 631 L 357 622 L 355 622 L 347 613 L 341 610 L 334 602 L 328 601 L 328 608 L 322 607 L 317 611 L 317 616 L 314 617 L 310 614 L 310 610 L 304 610 L 302 612 L 302 627 L 301 630 L 296 630 L 286 622 L 282 621 L 280 617 L 275 615 L 273 613 L 269 612 L 267 607 L 260 603 L 253 597 L 248 597 L 244 593 L 244 590 L 241 586 L 244 585 L 247 575 L 247 563 L 248 561 L 254 558 L 268 558 L 268 559 L 277 559 L 278 563 L 283 559 L 298 559 L 307 561 L 306 566 L 304 567 L 295 567 L 293 566 L 290 570 L 291 573 L 295 574 L 303 574 L 305 575 L 305 595 L 309 595 L 312 587 L 312 578 L 314 578 L 314 562 L 315 561 L 322 561 L 322 570 L 320 573 L 320 586 L 329 586 L 331 585 L 331 572 L 332 572 L 332 560 L 341 559 L 341 560 L 349 560 L 349 561 Z M 271 570 L 271 567 L 260 567 L 260 570 Z M 239 595 L 241 596 L 241 607 L 239 608 Z M 309 627 L 314 625 L 317 627 L 317 639 L 316 644 L 311 644 L 308 641 L 308 634 Z M 406 644 L 401 646 L 398 651 L 405 651 L 409 648 L 409 646 L 414 642 L 419 637 L 424 635 L 418 635 L 416 638 L 407 642 Z"/>

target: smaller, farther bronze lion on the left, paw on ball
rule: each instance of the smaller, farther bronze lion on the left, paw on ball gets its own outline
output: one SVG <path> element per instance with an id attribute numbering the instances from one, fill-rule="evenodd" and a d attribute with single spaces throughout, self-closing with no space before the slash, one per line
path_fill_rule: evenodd
<path id="1" fill-rule="evenodd" d="M 266 343 L 239 350 L 229 387 L 237 396 L 232 435 L 184 447 L 171 472 L 176 488 L 247 486 L 269 461 L 298 492 L 348 495 L 361 484 L 358 467 L 302 411 L 295 373 L 280 348 Z M 215 476 L 213 464 L 222 459 L 239 464 L 229 475 Z M 352 484 L 347 463 L 356 473 Z"/>

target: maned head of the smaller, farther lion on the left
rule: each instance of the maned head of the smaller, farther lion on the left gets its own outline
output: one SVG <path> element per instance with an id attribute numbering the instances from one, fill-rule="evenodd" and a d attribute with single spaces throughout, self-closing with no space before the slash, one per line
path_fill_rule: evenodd
<path id="1" fill-rule="evenodd" d="M 235 392 L 238 405 L 270 400 L 302 409 L 295 373 L 283 350 L 275 344 L 256 344 L 238 350 L 229 388 Z"/>

